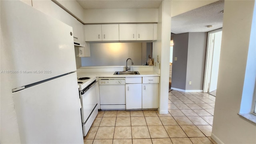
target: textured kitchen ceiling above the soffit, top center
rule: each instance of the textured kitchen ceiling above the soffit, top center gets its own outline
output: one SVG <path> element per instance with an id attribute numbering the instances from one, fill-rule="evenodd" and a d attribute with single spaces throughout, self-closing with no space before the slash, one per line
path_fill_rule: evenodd
<path id="1" fill-rule="evenodd" d="M 158 8 L 162 0 L 76 0 L 84 9 Z"/>

